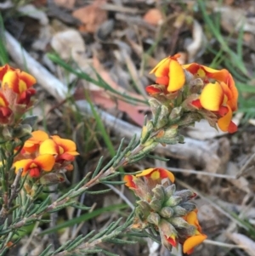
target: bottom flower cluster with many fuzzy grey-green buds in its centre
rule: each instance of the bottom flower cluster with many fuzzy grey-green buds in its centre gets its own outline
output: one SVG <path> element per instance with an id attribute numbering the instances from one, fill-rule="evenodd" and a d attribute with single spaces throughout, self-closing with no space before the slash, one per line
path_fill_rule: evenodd
<path id="1" fill-rule="evenodd" d="M 156 230 L 167 249 L 172 250 L 181 243 L 184 253 L 188 254 L 207 238 L 201 231 L 195 204 L 188 202 L 195 193 L 176 191 L 171 172 L 163 168 L 149 168 L 135 176 L 126 175 L 124 180 L 139 197 L 133 229 Z"/>

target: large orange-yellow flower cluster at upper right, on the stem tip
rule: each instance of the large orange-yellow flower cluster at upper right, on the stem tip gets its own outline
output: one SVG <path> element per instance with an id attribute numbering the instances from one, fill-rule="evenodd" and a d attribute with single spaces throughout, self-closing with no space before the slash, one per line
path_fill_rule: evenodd
<path id="1" fill-rule="evenodd" d="M 238 91 L 229 71 L 197 63 L 180 65 L 178 57 L 176 54 L 161 60 L 150 71 L 156 76 L 156 84 L 148 86 L 146 91 L 166 105 L 169 112 L 176 107 L 182 113 L 196 112 L 212 127 L 217 123 L 222 131 L 235 133 L 237 127 L 231 119 L 237 110 Z"/>

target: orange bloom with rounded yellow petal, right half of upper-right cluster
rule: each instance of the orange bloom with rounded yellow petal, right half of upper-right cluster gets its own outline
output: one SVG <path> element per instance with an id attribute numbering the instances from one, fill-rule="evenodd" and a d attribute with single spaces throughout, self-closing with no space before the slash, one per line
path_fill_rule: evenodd
<path id="1" fill-rule="evenodd" d="M 231 119 L 233 111 L 237 110 L 238 91 L 229 71 L 218 71 L 197 63 L 183 65 L 183 68 L 206 83 L 199 100 L 195 100 L 193 105 L 214 112 L 218 116 L 218 128 L 235 133 L 237 127 Z"/>

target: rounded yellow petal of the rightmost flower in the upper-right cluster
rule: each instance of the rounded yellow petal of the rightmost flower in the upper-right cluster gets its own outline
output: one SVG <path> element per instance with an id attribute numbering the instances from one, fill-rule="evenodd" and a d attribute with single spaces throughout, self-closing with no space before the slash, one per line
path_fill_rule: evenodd
<path id="1" fill-rule="evenodd" d="M 224 92 L 218 82 L 207 83 L 200 95 L 200 102 L 207 111 L 218 111 L 224 100 Z"/>

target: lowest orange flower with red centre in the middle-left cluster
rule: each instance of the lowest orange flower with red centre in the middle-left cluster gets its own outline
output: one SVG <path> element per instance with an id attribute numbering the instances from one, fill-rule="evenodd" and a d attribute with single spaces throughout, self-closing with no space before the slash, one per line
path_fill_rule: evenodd
<path id="1" fill-rule="evenodd" d="M 41 155 L 37 156 L 35 159 L 23 159 L 14 162 L 15 172 L 17 174 L 20 168 L 23 169 L 22 176 L 27 173 L 31 178 L 39 178 L 42 171 L 50 172 L 54 167 L 55 158 L 52 155 Z"/>

